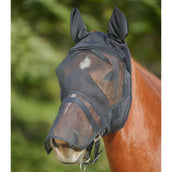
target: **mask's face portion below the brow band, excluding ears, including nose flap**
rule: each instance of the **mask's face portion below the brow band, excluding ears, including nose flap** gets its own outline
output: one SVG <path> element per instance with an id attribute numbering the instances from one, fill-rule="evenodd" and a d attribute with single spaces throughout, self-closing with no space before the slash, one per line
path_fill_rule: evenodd
<path id="1" fill-rule="evenodd" d="M 91 61 L 90 67 L 80 69 L 80 64 L 86 58 Z M 58 66 L 56 72 L 62 105 L 45 142 L 48 153 L 51 151 L 51 138 L 86 148 L 97 135 L 104 136 L 117 131 L 125 124 L 128 117 L 125 110 L 129 109 L 125 106 L 131 101 L 128 95 L 131 88 L 121 57 L 102 50 L 74 51 Z"/>

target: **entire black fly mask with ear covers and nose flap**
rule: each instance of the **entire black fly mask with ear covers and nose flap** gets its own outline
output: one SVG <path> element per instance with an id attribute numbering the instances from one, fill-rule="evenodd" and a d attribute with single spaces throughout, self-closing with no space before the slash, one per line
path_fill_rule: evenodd
<path id="1" fill-rule="evenodd" d="M 48 154 L 52 150 L 52 138 L 90 153 L 97 136 L 103 137 L 124 126 L 132 101 L 125 15 L 114 8 L 108 33 L 90 33 L 78 9 L 73 9 L 70 27 L 76 45 L 56 68 L 62 103 L 45 141 Z M 75 105 L 83 115 L 66 113 L 69 104 Z"/>

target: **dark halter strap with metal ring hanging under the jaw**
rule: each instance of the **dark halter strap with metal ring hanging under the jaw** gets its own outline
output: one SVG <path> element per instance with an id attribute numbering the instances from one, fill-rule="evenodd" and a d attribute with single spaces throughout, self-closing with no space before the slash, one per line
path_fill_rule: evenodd
<path id="1" fill-rule="evenodd" d="M 100 150 L 99 152 L 99 148 L 100 148 L 100 137 L 101 136 L 98 136 L 97 138 L 94 139 L 94 142 L 92 142 L 88 147 L 87 147 L 87 157 L 88 159 L 86 161 L 81 161 L 80 163 L 80 171 L 81 172 L 85 172 L 86 171 L 86 165 L 89 165 L 89 164 L 94 164 L 95 162 L 97 162 L 97 160 L 99 159 L 103 149 Z M 93 145 L 95 144 L 94 146 L 94 159 L 91 160 L 90 159 L 90 155 L 91 155 L 91 151 L 92 151 L 92 148 L 93 148 Z"/>

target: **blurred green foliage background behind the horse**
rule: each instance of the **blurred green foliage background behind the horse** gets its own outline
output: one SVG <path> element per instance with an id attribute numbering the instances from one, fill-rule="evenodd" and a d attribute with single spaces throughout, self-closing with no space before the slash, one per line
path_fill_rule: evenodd
<path id="1" fill-rule="evenodd" d="M 128 47 L 139 63 L 161 77 L 160 0 L 12 0 L 11 1 L 11 171 L 71 172 L 46 154 L 43 143 L 60 104 L 56 66 L 74 45 L 70 12 L 79 8 L 89 31 L 107 32 L 117 6 L 129 22 Z M 87 167 L 110 171 L 106 153 Z"/>

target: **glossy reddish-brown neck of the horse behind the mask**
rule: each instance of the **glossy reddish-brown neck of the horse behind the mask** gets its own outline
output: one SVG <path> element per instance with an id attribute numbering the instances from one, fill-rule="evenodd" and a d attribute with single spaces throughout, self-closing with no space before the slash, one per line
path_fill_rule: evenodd
<path id="1" fill-rule="evenodd" d="M 159 171 L 161 84 L 132 59 L 132 105 L 124 127 L 104 137 L 112 171 Z"/>

